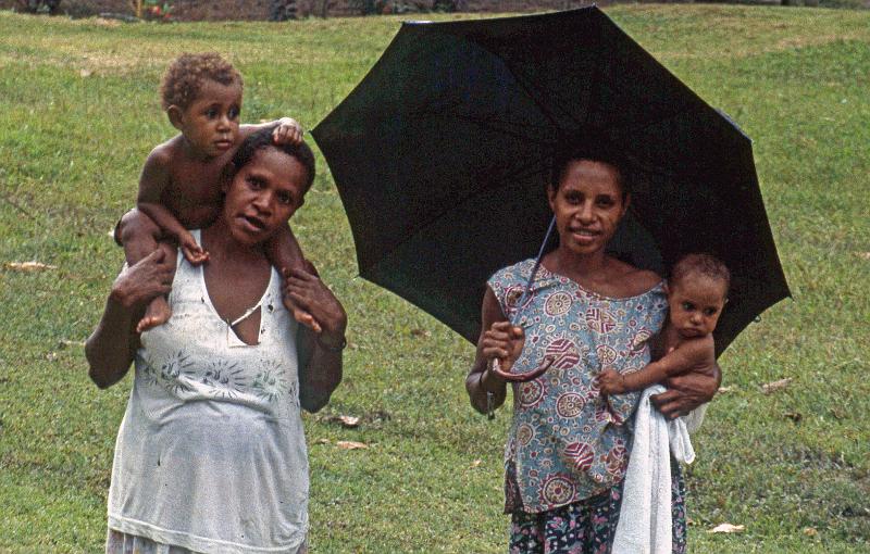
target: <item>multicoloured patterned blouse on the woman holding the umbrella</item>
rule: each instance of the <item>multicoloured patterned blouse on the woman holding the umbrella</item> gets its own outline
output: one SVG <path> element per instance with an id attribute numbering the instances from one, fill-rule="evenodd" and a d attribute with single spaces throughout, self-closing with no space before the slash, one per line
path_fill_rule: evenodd
<path id="1" fill-rule="evenodd" d="M 502 312 L 525 330 L 514 370 L 552 365 L 513 385 L 513 424 L 505 449 L 505 512 L 539 513 L 596 495 L 625 474 L 631 416 L 639 393 L 605 401 L 594 386 L 607 367 L 630 373 L 649 363 L 649 339 L 667 314 L 662 285 L 614 299 L 584 290 L 540 267 L 518 306 L 534 265 L 526 260 L 487 282 Z"/>

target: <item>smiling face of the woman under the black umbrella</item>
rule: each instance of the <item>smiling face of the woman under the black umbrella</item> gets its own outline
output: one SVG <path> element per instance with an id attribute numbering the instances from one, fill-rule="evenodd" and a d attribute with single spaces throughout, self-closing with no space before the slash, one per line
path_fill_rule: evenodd
<path id="1" fill-rule="evenodd" d="M 549 190 L 560 247 L 588 255 L 604 251 L 629 207 L 619 175 L 609 164 L 588 160 L 569 162 L 559 188 Z"/>

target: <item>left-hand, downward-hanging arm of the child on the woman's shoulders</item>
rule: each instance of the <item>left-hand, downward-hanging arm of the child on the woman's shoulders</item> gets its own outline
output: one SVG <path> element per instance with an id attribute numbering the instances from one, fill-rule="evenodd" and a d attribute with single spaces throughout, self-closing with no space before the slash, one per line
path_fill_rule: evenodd
<path id="1" fill-rule="evenodd" d="M 197 244 L 194 236 L 184 228 L 178 218 L 160 203 L 163 191 L 170 186 L 171 162 L 172 156 L 161 147 L 151 151 L 139 177 L 139 196 L 136 199 L 136 206 L 148 215 L 164 235 L 178 242 L 178 247 L 188 262 L 201 264 L 209 259 L 208 252 Z"/>

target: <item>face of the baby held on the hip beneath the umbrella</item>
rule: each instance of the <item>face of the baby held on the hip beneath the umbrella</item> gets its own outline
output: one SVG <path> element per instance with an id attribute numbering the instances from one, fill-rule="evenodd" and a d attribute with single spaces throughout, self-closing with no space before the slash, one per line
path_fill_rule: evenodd
<path id="1" fill-rule="evenodd" d="M 713 332 L 725 305 L 726 285 L 721 279 L 687 274 L 668 288 L 671 325 L 684 339 Z"/>

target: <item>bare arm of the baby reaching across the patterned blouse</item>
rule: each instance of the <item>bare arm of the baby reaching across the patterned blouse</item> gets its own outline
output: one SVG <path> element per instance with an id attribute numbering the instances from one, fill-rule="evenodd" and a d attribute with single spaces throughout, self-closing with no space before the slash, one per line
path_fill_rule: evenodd
<path id="1" fill-rule="evenodd" d="M 597 377 L 598 386 L 601 394 L 641 391 L 669 377 L 691 372 L 699 365 L 704 366 L 712 355 L 712 337 L 688 340 L 637 372 L 623 375 L 614 369 L 605 369 Z"/>

